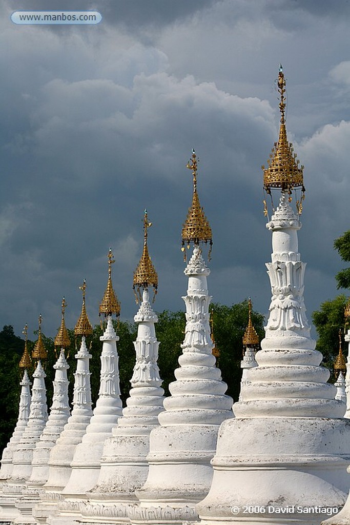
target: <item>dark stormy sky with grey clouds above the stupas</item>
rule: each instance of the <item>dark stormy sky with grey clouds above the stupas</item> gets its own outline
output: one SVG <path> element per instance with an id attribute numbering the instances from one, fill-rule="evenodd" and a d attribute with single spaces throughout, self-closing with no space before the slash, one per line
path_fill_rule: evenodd
<path id="1" fill-rule="evenodd" d="M 95 9 L 97 25 L 17 25 L 17 10 Z M 92 324 L 107 285 L 121 319 L 137 306 L 143 213 L 158 272 L 156 311 L 184 310 L 181 230 L 192 199 L 213 230 L 214 302 L 251 297 L 267 315 L 271 233 L 262 170 L 278 138 L 276 79 L 304 165 L 299 232 L 305 304 L 344 290 L 333 241 L 350 229 L 350 3 L 347 0 L 47 0 L 0 3 L 0 328 L 55 337 L 81 311 Z"/>

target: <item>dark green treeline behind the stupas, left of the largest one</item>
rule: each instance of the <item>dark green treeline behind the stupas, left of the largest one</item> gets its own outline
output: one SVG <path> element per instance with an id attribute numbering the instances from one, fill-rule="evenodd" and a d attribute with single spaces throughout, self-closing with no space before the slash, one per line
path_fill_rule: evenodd
<path id="1" fill-rule="evenodd" d="M 218 366 L 221 369 L 222 379 L 227 383 L 227 394 L 235 401 L 238 400 L 240 390 L 242 359 L 242 337 L 248 323 L 248 301 L 233 304 L 231 307 L 214 303 L 210 307 L 213 310 L 214 337 L 216 347 L 219 350 Z M 263 337 L 263 316 L 252 312 L 252 322 L 260 338 Z M 158 366 L 163 380 L 165 395 L 169 395 L 168 385 L 175 381 L 174 371 L 178 368 L 178 358 L 182 353 L 181 344 L 185 333 L 185 313 L 183 311 L 169 312 L 167 310 L 158 313 L 156 324 L 156 336 L 160 341 Z M 113 321 L 114 328 L 119 335 L 117 342 L 119 354 L 119 374 L 121 398 L 123 404 L 129 396 L 130 379 L 135 364 L 135 349 L 133 341 L 136 339 L 137 325 L 130 322 Z M 68 330 L 71 344 L 66 349 L 66 358 L 69 364 L 69 399 L 72 401 L 74 373 L 76 371 L 75 355 L 80 346 L 80 340 L 76 340 L 74 332 Z M 103 329 L 96 325 L 93 334 L 87 338 L 87 346 L 91 354 L 90 360 L 90 382 L 93 406 L 97 401 L 100 386 L 100 355 L 102 343 L 100 336 Z M 37 335 L 37 333 L 34 333 Z M 47 401 L 48 406 L 52 403 L 55 370 L 53 368 L 57 358 L 57 350 L 54 348 L 54 340 L 42 334 L 44 346 L 48 352 L 48 358 L 44 363 L 46 373 Z M 33 339 L 36 339 L 33 338 Z M 34 348 L 34 341 L 28 340 L 28 350 Z M 2 450 L 13 433 L 17 417 L 20 393 L 20 380 L 22 372 L 18 368 L 19 360 L 23 354 L 24 340 L 14 334 L 13 327 L 5 325 L 0 332 L 0 410 L 2 418 L 0 421 L 0 450 Z M 31 377 L 34 365 L 29 370 Z M 31 380 L 33 381 L 33 380 Z"/>

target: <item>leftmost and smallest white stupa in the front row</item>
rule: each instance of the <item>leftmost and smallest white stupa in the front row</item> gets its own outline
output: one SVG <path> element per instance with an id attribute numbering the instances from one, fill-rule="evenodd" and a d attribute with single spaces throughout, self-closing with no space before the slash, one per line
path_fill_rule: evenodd
<path id="1" fill-rule="evenodd" d="M 30 411 L 30 381 L 28 377 L 28 369 L 31 366 L 31 359 L 27 348 L 28 343 L 28 325 L 26 324 L 23 330 L 25 334 L 25 343 L 24 343 L 24 352 L 21 360 L 19 361 L 19 368 L 23 369 L 22 381 L 19 383 L 21 386 L 20 396 L 19 396 L 19 410 L 18 410 L 18 419 L 15 426 L 12 437 L 7 443 L 6 448 L 3 450 L 3 455 L 1 458 L 1 470 L 0 470 L 0 481 L 5 481 L 10 478 L 13 470 L 13 450 L 15 446 L 19 443 L 20 438 L 23 435 L 23 432 L 28 424 L 29 411 Z"/>

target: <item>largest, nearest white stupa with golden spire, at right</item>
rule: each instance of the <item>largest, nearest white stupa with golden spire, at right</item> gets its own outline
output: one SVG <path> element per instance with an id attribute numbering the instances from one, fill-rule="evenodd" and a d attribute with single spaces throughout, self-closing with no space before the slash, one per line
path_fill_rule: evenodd
<path id="1" fill-rule="evenodd" d="M 305 263 L 298 253 L 298 216 L 289 203 L 303 188 L 302 167 L 287 142 L 285 81 L 280 70 L 279 141 L 264 170 L 264 187 L 282 190 L 267 227 L 272 262 L 267 264 L 272 300 L 258 366 L 234 405 L 235 419 L 221 425 L 214 477 L 197 506 L 201 523 L 320 523 L 322 508 L 344 504 L 349 478 L 350 424 L 345 406 L 314 350 L 303 300 Z M 301 509 L 301 510 L 300 510 Z M 305 510 L 306 509 L 306 510 Z M 312 509 L 312 510 L 309 510 Z"/>

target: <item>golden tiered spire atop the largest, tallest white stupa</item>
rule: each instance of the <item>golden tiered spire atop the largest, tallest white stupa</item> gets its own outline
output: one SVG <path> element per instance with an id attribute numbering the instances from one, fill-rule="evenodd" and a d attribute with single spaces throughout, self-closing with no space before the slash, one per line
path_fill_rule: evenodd
<path id="1" fill-rule="evenodd" d="M 278 91 L 281 97 L 279 104 L 281 112 L 281 124 L 280 134 L 278 142 L 274 143 L 272 153 L 268 160 L 268 167 L 261 166 L 264 177 L 263 186 L 264 190 L 271 195 L 271 188 L 280 188 L 282 192 L 289 193 L 289 200 L 291 201 L 291 193 L 294 188 L 301 188 L 302 194 L 300 200 L 296 201 L 296 207 L 298 213 L 302 212 L 302 201 L 305 198 L 304 182 L 303 182 L 303 168 L 304 166 L 299 165 L 299 160 L 296 159 L 296 153 L 293 152 L 293 145 L 287 141 L 287 131 L 285 129 L 285 79 L 283 75 L 282 66 L 280 65 L 280 71 L 277 80 Z M 266 202 L 265 215 L 267 215 Z"/>

